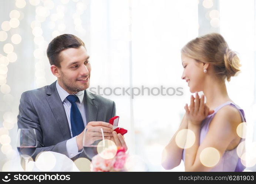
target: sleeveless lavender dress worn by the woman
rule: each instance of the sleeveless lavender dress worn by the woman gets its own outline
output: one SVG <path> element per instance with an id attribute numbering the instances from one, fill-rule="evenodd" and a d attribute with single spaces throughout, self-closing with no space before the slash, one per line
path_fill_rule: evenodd
<path id="1" fill-rule="evenodd" d="M 218 110 L 220 110 L 222 107 L 224 107 L 226 105 L 231 105 L 231 106 L 235 107 L 236 109 L 238 109 L 241 114 L 242 122 L 246 122 L 245 113 L 238 105 L 236 105 L 232 102 L 223 103 L 222 105 L 220 105 L 214 109 L 213 114 L 207 116 L 203 120 L 202 125 L 201 125 L 201 130 L 200 130 L 199 145 L 202 143 L 203 139 L 205 139 L 206 134 L 209 131 L 209 124 L 212 121 L 212 118 L 215 116 L 215 114 L 218 112 Z M 242 141 L 245 141 L 245 139 L 241 138 L 240 142 L 242 142 Z M 236 153 L 236 148 L 234 148 L 230 151 L 225 151 L 225 153 L 222 155 L 222 158 L 220 159 L 219 163 L 215 167 L 213 167 L 212 170 L 210 170 L 210 171 L 243 171 L 245 169 L 245 166 L 243 166 L 243 164 L 241 163 L 241 160 Z M 182 153 L 182 160 L 185 162 L 185 150 L 184 149 L 183 149 L 183 153 Z"/>

